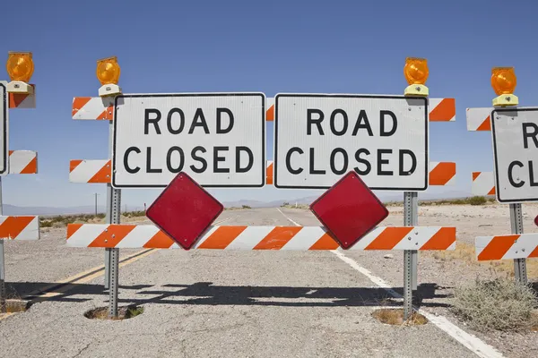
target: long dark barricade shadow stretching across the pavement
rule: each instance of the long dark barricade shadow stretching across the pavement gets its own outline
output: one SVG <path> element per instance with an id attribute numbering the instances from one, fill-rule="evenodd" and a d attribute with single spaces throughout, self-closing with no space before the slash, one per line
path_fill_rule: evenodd
<path id="1" fill-rule="evenodd" d="M 87 302 L 101 296 L 108 302 L 108 291 L 102 285 L 10 283 L 14 292 L 39 294 L 21 296 L 32 303 Z M 378 287 L 291 287 L 291 286 L 213 286 L 211 282 L 193 285 L 164 285 L 159 290 L 152 285 L 119 286 L 118 302 L 133 304 L 186 304 L 186 305 L 259 305 L 290 307 L 338 306 L 401 306 L 402 299 L 395 299 L 385 289 Z M 443 292 L 450 287 L 421 284 L 413 292 L 413 304 L 418 307 L 448 307 Z M 402 287 L 393 288 L 403 294 Z M 129 298 L 124 298 L 128 291 Z M 45 295 L 43 295 L 45 294 Z M 426 301 L 425 301 L 426 300 Z"/>

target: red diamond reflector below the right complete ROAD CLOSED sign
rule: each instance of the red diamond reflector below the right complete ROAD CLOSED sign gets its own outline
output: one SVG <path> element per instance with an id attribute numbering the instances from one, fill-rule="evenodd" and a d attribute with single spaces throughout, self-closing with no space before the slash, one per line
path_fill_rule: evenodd
<path id="1" fill-rule="evenodd" d="M 344 249 L 388 216 L 385 205 L 351 171 L 310 205 L 310 210 Z"/>

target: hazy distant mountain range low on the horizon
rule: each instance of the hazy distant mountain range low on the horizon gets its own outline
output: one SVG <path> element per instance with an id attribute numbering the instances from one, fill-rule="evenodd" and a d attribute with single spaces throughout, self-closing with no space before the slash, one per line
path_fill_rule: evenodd
<path id="1" fill-rule="evenodd" d="M 403 201 L 403 194 L 394 193 L 377 193 L 379 199 L 383 202 L 389 201 Z M 465 198 L 470 196 L 467 192 L 441 192 L 441 193 L 429 193 L 424 192 L 419 194 L 420 200 L 439 200 L 439 199 L 456 199 Z M 278 208 L 282 206 L 284 202 L 288 202 L 291 205 L 295 204 L 310 204 L 316 200 L 317 196 L 310 196 L 306 198 L 290 199 L 290 200 L 273 200 L 273 201 L 259 201 L 259 200 L 237 200 L 237 201 L 225 201 L 222 204 L 225 208 L 241 208 L 244 205 L 250 208 Z M 123 209 L 123 208 L 122 208 Z M 139 210 L 139 208 L 137 208 Z M 99 213 L 104 213 L 104 207 L 98 207 Z M 129 210 L 131 211 L 131 210 Z M 95 207 L 80 206 L 80 207 L 68 207 L 68 208 L 52 208 L 52 207 L 18 207 L 15 205 L 4 204 L 4 215 L 41 215 L 41 216 L 54 216 L 54 215 L 74 215 L 74 214 L 94 214 Z"/>

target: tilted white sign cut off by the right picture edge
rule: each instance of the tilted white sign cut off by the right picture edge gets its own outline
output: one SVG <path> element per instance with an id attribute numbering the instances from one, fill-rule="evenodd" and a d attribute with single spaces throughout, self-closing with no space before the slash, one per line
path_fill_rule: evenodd
<path id="1" fill-rule="evenodd" d="M 538 108 L 495 109 L 490 118 L 497 200 L 538 201 Z"/>

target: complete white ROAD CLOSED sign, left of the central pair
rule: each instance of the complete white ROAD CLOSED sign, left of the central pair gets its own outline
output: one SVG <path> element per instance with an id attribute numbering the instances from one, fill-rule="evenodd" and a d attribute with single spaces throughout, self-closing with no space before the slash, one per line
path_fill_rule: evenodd
<path id="1" fill-rule="evenodd" d="M 112 185 L 166 187 L 185 172 L 204 187 L 265 184 L 265 95 L 121 95 Z"/>

